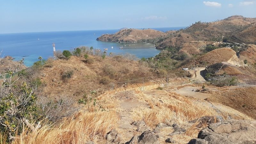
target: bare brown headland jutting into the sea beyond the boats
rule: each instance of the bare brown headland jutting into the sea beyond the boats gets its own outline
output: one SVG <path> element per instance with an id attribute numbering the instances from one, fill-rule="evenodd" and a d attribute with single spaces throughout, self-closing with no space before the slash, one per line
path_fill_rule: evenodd
<path id="1" fill-rule="evenodd" d="M 154 39 L 166 36 L 164 32 L 153 29 L 123 29 L 115 34 L 105 34 L 97 38 L 99 41 L 113 42 L 140 42 L 142 40 Z"/>

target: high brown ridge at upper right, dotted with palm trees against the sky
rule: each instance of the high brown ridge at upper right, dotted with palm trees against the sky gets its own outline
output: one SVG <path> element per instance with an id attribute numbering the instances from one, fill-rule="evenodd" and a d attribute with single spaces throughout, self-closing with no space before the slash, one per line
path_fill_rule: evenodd
<path id="1" fill-rule="evenodd" d="M 255 24 L 256 18 L 245 18 L 243 16 L 231 16 L 224 20 L 214 22 L 196 22 L 185 30 L 180 30 L 176 33 L 168 33 L 165 40 L 158 42 L 156 47 L 179 47 L 184 43 L 189 43 L 189 41 L 222 41 L 222 36 L 231 37 L 233 41 L 254 43 L 256 38 L 254 37 L 255 35 L 253 35 L 255 29 L 253 26 Z M 234 38 L 233 35 L 236 38 Z M 248 38 L 250 38 L 250 41 L 246 40 Z"/>

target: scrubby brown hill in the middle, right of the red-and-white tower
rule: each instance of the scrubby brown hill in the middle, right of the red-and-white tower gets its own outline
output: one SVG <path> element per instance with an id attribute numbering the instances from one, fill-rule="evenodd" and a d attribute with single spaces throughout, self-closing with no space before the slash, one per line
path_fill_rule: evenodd
<path id="1" fill-rule="evenodd" d="M 69 95 L 78 99 L 90 90 L 108 90 L 111 82 L 122 82 L 154 74 L 148 67 L 122 56 L 102 59 L 90 55 L 88 61 L 82 57 L 72 56 L 69 60 L 53 61 L 52 67 L 44 67 L 40 76 L 41 81 L 46 84 L 43 94 L 55 98 Z M 72 71 L 73 75 L 70 78 L 63 78 L 69 71 Z M 115 83 L 115 87 L 123 84 Z"/>

